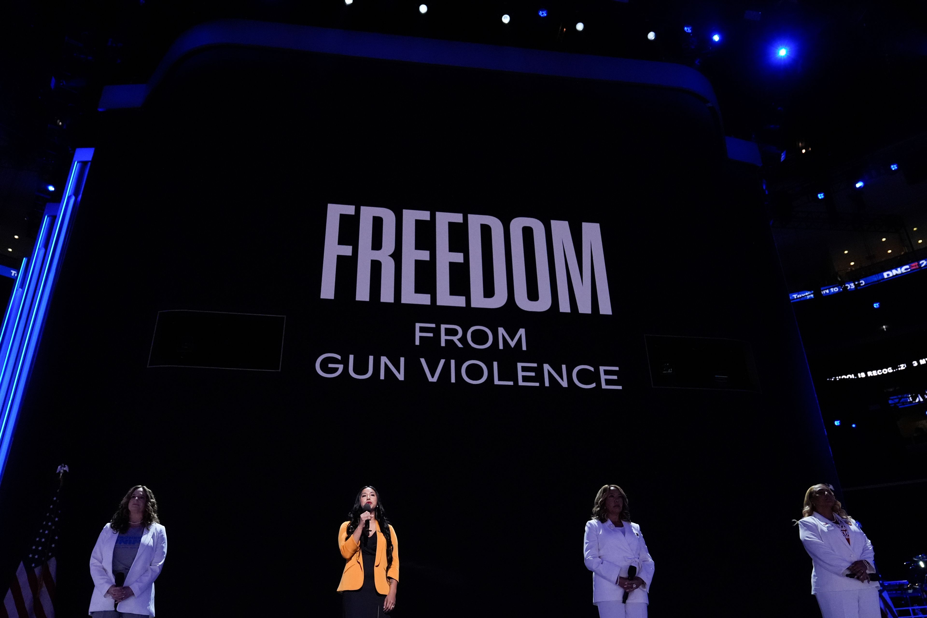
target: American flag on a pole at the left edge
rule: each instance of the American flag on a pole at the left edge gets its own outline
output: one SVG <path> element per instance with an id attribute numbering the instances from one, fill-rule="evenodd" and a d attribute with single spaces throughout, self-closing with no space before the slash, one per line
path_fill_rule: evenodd
<path id="1" fill-rule="evenodd" d="M 58 466 L 59 479 L 66 472 L 68 466 Z M 61 484 L 58 483 L 39 534 L 26 550 L 9 584 L 3 605 L 0 605 L 0 618 L 55 618 L 55 553 L 60 517 Z"/>

